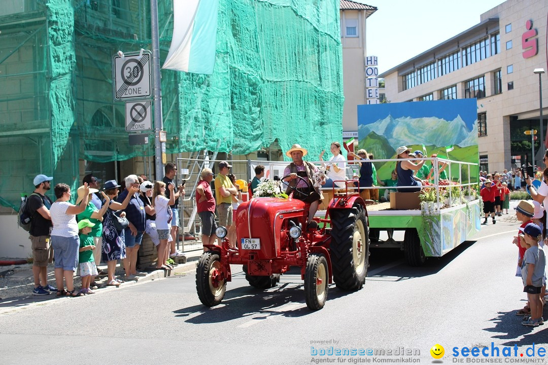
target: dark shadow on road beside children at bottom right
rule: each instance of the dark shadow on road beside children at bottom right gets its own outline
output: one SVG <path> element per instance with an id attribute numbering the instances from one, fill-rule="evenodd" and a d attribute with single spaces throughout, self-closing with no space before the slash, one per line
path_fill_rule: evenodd
<path id="1" fill-rule="evenodd" d="M 546 306 L 544 307 L 543 317 L 548 318 L 548 308 L 546 308 Z M 548 338 L 548 325 L 541 325 L 540 328 L 544 327 L 541 331 L 531 333 L 534 331 L 535 327 L 523 326 L 521 324 L 523 316 L 516 316 L 515 310 L 510 312 L 498 312 L 498 316 L 490 321 L 495 324 L 495 327 L 484 328 L 484 331 L 499 333 L 492 336 L 492 338 L 513 340 L 503 343 L 504 346 L 513 346 L 514 344 L 517 344 L 518 346 L 545 344 L 546 338 Z M 523 338 L 518 340 L 518 338 L 522 336 Z"/>

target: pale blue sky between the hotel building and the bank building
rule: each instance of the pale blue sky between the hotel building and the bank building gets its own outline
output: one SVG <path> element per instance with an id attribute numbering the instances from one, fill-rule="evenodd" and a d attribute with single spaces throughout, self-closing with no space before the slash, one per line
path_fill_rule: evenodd
<path id="1" fill-rule="evenodd" d="M 367 55 L 379 74 L 479 23 L 504 0 L 354 0 L 377 8 L 367 18 Z"/>

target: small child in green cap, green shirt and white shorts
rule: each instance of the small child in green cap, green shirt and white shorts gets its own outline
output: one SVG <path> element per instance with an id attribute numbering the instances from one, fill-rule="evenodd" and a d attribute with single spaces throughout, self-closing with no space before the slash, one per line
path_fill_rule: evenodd
<path id="1" fill-rule="evenodd" d="M 97 266 L 93 258 L 93 250 L 96 250 L 96 247 L 93 236 L 90 235 L 93 227 L 95 227 L 95 223 L 90 222 L 89 219 L 82 219 L 78 222 L 78 237 L 80 238 L 78 269 L 80 277 L 82 277 L 82 288 L 78 293 L 79 295 L 93 294 L 89 289 L 89 285 L 92 282 L 92 277 L 97 275 Z"/>

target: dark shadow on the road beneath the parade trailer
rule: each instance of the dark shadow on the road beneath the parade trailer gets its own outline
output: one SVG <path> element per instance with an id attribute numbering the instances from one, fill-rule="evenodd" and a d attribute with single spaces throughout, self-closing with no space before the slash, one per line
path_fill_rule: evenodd
<path id="1" fill-rule="evenodd" d="M 419 267 L 409 266 L 407 263 L 390 267 L 391 263 L 404 259 L 403 252 L 397 248 L 375 248 L 371 250 L 371 256 L 369 257 L 371 263 L 369 273 L 375 273 L 375 270 L 379 267 L 382 269 L 383 265 L 387 265 L 387 268 L 379 274 L 368 274 L 367 279 L 375 280 L 375 278 L 378 278 L 383 281 L 402 281 L 434 275 L 475 243 L 476 241 L 465 241 L 442 257 L 427 258 L 423 266 Z M 386 277 L 390 277 L 390 279 L 386 279 Z"/>

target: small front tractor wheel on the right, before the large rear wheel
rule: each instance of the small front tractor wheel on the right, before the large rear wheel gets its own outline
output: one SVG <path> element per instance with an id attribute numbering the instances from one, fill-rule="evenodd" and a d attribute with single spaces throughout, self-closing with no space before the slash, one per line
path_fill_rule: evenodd
<path id="1" fill-rule="evenodd" d="M 326 257 L 313 253 L 306 261 L 305 299 L 306 305 L 312 310 L 322 309 L 326 304 L 329 289 Z"/>

